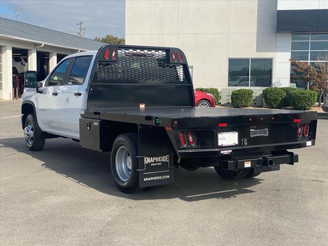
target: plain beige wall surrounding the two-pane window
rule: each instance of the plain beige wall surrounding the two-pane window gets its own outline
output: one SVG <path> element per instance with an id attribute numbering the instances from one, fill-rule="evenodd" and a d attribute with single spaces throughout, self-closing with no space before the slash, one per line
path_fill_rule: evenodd
<path id="1" fill-rule="evenodd" d="M 227 87 L 229 57 L 273 58 L 275 78 L 276 12 L 276 0 L 127 0 L 126 43 L 179 47 L 195 87 Z"/>

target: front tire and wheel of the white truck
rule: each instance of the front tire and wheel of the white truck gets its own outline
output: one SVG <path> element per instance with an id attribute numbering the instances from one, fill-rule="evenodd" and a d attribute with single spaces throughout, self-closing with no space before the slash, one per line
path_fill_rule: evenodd
<path id="1" fill-rule="evenodd" d="M 24 137 L 26 146 L 29 148 L 29 150 L 40 151 L 45 146 L 46 138 L 38 135 L 34 114 L 29 114 L 26 117 Z"/>

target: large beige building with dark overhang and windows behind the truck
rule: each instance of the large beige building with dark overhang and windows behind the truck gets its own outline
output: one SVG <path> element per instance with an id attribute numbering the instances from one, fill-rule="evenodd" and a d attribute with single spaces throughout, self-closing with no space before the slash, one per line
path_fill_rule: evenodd
<path id="1" fill-rule="evenodd" d="M 306 87 L 290 58 L 328 54 L 328 1 L 127 0 L 126 43 L 180 48 L 195 87 Z"/>

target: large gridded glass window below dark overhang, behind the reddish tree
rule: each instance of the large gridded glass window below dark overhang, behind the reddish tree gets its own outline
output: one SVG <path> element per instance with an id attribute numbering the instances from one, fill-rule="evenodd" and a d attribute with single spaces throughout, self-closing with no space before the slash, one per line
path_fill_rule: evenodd
<path id="1" fill-rule="evenodd" d="M 292 59 L 315 65 L 323 62 L 321 59 L 324 55 L 328 55 L 328 33 L 292 34 Z M 293 69 L 294 67 L 291 66 L 291 86 L 308 88 L 308 84 L 304 80 L 292 78 L 295 74 Z"/>

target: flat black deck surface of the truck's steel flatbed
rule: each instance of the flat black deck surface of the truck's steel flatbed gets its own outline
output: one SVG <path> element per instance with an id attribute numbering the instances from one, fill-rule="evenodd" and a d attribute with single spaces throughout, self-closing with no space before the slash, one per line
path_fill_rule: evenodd
<path id="1" fill-rule="evenodd" d="M 179 122 L 183 120 L 185 123 L 187 123 L 188 120 L 194 120 L 193 122 L 196 122 L 198 119 L 201 120 L 202 123 L 207 122 L 213 126 L 214 121 L 216 122 L 219 119 L 227 117 L 233 117 L 236 120 L 240 120 L 243 117 L 253 116 L 255 117 L 253 120 L 257 120 L 259 116 L 263 116 L 262 119 L 265 121 L 269 118 L 272 119 L 272 115 L 279 115 L 274 122 L 270 121 L 271 123 L 275 123 L 278 121 L 289 121 L 291 119 L 300 118 L 304 113 L 306 113 L 306 115 L 313 116 L 316 115 L 317 112 L 282 109 L 236 109 L 201 107 L 94 108 L 82 111 L 81 117 L 145 125 L 155 125 L 154 120 L 156 117 L 158 117 L 160 119 L 159 126 L 172 127 L 172 120 L 175 119 L 179 119 Z M 238 124 L 238 122 L 234 123 L 234 125 Z"/>

